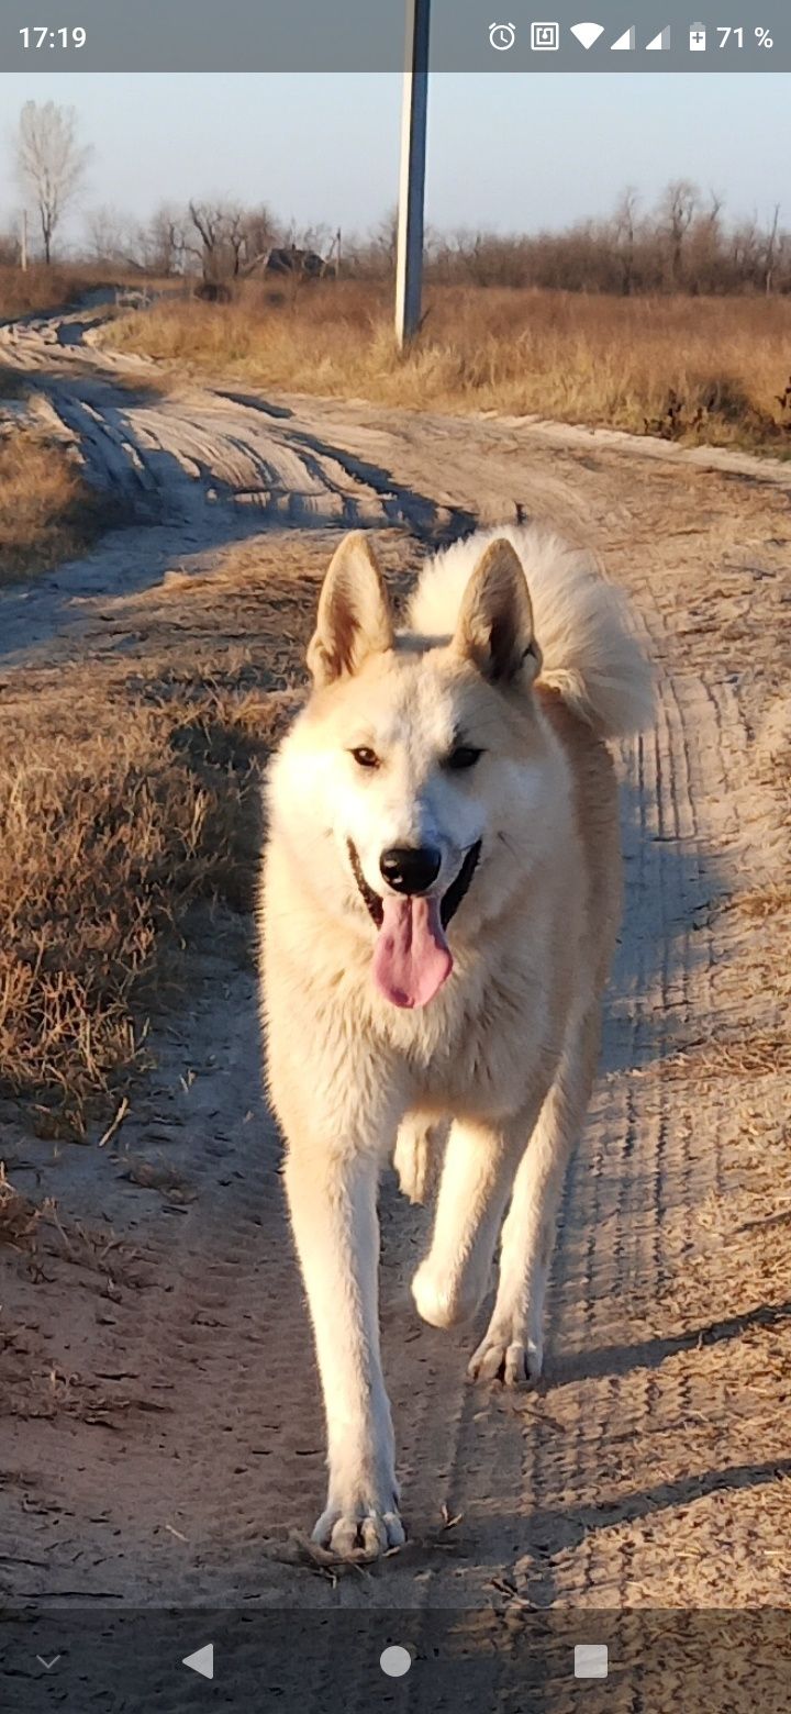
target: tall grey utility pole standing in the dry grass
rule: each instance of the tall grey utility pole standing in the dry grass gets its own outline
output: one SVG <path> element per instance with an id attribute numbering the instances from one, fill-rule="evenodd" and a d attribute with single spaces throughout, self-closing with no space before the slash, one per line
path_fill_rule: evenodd
<path id="1" fill-rule="evenodd" d="M 431 0 L 406 0 L 404 101 L 401 111 L 399 242 L 396 254 L 396 338 L 401 350 L 418 333 L 426 187 L 428 14 Z"/>

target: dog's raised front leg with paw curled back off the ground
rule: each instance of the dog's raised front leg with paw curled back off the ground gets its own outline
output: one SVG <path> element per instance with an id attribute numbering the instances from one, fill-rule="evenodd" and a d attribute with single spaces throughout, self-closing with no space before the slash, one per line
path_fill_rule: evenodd
<path id="1" fill-rule="evenodd" d="M 505 1124 L 452 1124 L 431 1250 L 413 1279 L 418 1313 L 431 1327 L 469 1320 L 490 1287 L 505 1203 L 543 1094 Z"/>

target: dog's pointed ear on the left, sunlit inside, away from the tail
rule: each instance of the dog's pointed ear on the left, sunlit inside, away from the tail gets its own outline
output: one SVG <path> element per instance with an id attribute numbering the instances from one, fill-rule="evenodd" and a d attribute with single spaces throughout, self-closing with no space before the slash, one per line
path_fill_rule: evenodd
<path id="1" fill-rule="evenodd" d="M 332 557 L 308 643 L 313 684 L 360 672 L 368 655 L 392 648 L 392 614 L 385 583 L 365 530 L 344 536 Z"/>

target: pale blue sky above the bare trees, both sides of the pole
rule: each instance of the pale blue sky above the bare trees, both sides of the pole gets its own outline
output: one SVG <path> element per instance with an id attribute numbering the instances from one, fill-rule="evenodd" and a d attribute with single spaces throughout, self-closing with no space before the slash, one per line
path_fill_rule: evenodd
<path id="1" fill-rule="evenodd" d="M 563 226 L 608 211 L 627 183 L 651 201 L 688 177 L 724 195 L 731 214 L 765 216 L 781 202 L 791 223 L 789 94 L 781 74 L 438 74 L 428 219 Z M 5 74 L 0 219 L 19 204 L 12 132 L 29 98 L 80 115 L 94 149 L 84 209 L 144 218 L 159 202 L 231 195 L 351 233 L 396 201 L 401 96 L 389 74 Z"/>

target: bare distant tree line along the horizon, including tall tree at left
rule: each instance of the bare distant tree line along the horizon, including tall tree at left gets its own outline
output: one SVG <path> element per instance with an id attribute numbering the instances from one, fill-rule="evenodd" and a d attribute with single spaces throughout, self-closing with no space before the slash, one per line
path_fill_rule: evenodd
<path id="1" fill-rule="evenodd" d="M 62 216 L 84 180 L 87 153 L 72 108 L 27 101 L 17 130 L 17 178 L 36 209 L 46 262 Z M 24 261 L 26 226 L 0 235 L 0 261 Z M 147 221 L 118 211 L 89 213 L 82 261 L 159 278 L 183 276 L 207 297 L 228 297 L 257 273 L 291 278 L 353 276 L 387 279 L 396 264 L 396 216 L 365 238 L 330 235 L 324 226 L 282 226 L 265 204 L 190 201 L 163 206 Z M 767 219 L 728 219 L 723 199 L 702 195 L 690 180 L 673 180 L 659 201 L 642 207 L 623 190 L 606 219 L 577 221 L 562 231 L 430 231 L 428 278 L 445 285 L 541 286 L 620 293 L 789 293 L 791 231 L 779 204 Z"/>

